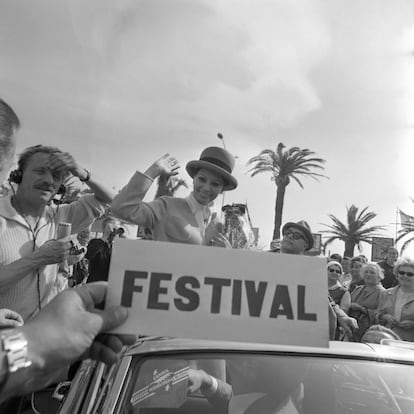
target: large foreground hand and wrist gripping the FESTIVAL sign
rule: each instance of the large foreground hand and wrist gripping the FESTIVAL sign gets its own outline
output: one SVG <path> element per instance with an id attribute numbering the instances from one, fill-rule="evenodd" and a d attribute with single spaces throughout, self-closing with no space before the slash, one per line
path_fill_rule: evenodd
<path id="1" fill-rule="evenodd" d="M 127 310 L 122 307 L 104 311 L 95 308 L 104 300 L 106 286 L 92 283 L 64 291 L 25 326 L 13 330 L 24 334 L 32 364 L 7 374 L 5 354 L 0 352 L 0 383 L 6 381 L 0 402 L 44 388 L 53 383 L 62 369 L 81 357 L 107 364 L 118 360 L 123 345 L 132 344 L 135 337 L 98 336 L 127 318 Z"/>

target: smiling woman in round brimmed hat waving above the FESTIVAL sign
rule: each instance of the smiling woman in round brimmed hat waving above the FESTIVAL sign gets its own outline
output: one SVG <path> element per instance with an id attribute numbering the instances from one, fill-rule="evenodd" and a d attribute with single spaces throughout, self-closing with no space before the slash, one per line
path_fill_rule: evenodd
<path id="1" fill-rule="evenodd" d="M 178 161 L 166 154 L 144 174 L 137 171 L 133 175 L 115 197 L 112 213 L 123 220 L 151 228 L 154 240 L 229 247 L 218 226 L 212 223 L 210 206 L 223 191 L 237 187 L 237 180 L 231 174 L 234 162 L 234 157 L 225 149 L 208 147 L 199 160 L 186 165 L 193 179 L 193 191 L 188 197 L 160 197 L 143 202 L 156 177 L 177 174 Z"/>

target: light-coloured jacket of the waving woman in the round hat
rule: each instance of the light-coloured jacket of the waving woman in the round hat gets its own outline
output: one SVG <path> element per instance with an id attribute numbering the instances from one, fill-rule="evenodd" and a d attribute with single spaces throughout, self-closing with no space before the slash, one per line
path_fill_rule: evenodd
<path id="1" fill-rule="evenodd" d="M 208 206 L 194 196 L 160 197 L 144 202 L 152 178 L 137 171 L 115 197 L 111 211 L 122 220 L 148 227 L 153 239 L 173 243 L 207 244 L 204 234 L 210 218 Z"/>

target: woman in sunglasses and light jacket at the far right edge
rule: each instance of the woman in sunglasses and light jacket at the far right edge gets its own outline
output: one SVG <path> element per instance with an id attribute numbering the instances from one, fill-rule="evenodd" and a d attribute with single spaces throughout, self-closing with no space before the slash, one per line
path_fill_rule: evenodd
<path id="1" fill-rule="evenodd" d="M 404 341 L 414 341 L 414 260 L 402 257 L 394 266 L 399 286 L 381 295 L 377 318 Z"/>

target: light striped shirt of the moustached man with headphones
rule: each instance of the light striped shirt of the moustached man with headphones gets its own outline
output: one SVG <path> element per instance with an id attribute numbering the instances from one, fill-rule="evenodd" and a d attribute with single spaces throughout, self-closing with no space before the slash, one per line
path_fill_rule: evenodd
<path id="1" fill-rule="evenodd" d="M 72 224 L 72 234 L 88 227 L 105 212 L 106 205 L 93 195 L 81 197 L 71 204 L 47 206 L 39 220 L 35 240 L 25 219 L 14 209 L 11 197 L 0 198 L 0 278 L 1 267 L 38 249 L 55 239 L 58 224 Z M 58 293 L 58 264 L 40 267 L 40 303 L 43 307 Z M 0 292 L 0 308 L 13 309 L 24 320 L 34 316 L 39 307 L 37 272 L 32 271 L 15 285 Z"/>

